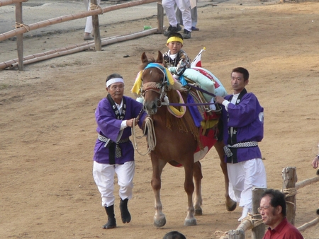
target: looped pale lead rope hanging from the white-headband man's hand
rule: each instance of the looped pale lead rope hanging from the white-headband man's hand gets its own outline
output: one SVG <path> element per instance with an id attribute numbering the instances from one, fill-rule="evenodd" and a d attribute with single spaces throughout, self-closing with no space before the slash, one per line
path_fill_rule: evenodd
<path id="1" fill-rule="evenodd" d="M 147 134 L 146 134 L 147 130 Z M 138 144 L 136 142 L 136 139 L 141 139 L 142 136 L 146 134 L 146 141 L 147 141 L 147 152 L 146 153 L 140 153 L 138 151 Z M 136 136 L 135 134 L 135 119 L 133 120 L 133 127 L 132 127 L 132 141 L 134 144 L 135 150 L 140 154 L 141 156 L 147 155 L 147 153 L 150 153 L 150 151 L 154 150 L 156 146 L 156 136 L 155 136 L 155 130 L 154 130 L 154 124 L 153 120 L 151 117 L 147 116 L 145 118 L 145 126 L 143 130 L 143 135 L 142 136 Z"/>

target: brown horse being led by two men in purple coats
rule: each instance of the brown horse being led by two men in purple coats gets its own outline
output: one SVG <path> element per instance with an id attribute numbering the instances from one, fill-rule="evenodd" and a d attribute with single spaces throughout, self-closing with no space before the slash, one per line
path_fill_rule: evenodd
<path id="1" fill-rule="evenodd" d="M 171 165 L 179 164 L 184 166 L 184 189 L 188 199 L 188 210 L 184 226 L 194 226 L 196 225 L 194 216 L 202 214 L 201 180 L 203 175 L 201 173 L 201 163 L 199 161 L 194 163 L 194 152 L 198 144 L 201 144 L 198 141 L 199 129 L 195 126 L 189 110 L 184 112 L 184 116 L 175 117 L 169 112 L 168 106 L 164 105 L 165 97 L 169 98 L 170 103 L 180 102 L 181 96 L 178 94 L 177 88 L 179 88 L 179 92 L 181 92 L 186 102 L 186 92 L 183 91 L 178 82 L 175 82 L 174 85 L 167 83 L 168 79 L 162 66 L 162 53 L 158 52 L 156 61 L 154 58 L 148 59 L 145 52 L 142 54 L 141 59 L 143 104 L 144 109 L 152 118 L 157 140 L 154 150 L 150 152 L 153 168 L 151 184 L 155 194 L 154 225 L 162 227 L 166 223 L 165 215 L 162 213 L 159 191 L 161 189 L 162 170 L 169 163 Z M 153 64 L 150 65 L 151 62 Z M 220 156 L 220 166 L 225 177 L 226 208 L 228 211 L 233 211 L 236 208 L 236 203 L 228 195 L 228 174 L 226 164 L 223 163 L 223 143 L 218 142 L 215 144 L 215 148 Z"/>

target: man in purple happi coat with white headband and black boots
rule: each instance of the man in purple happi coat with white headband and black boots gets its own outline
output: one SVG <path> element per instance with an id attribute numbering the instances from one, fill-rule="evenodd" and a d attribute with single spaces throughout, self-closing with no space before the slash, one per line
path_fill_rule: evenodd
<path id="1" fill-rule="evenodd" d="M 118 176 L 121 197 L 120 210 L 123 223 L 130 222 L 128 199 L 132 198 L 135 173 L 134 148 L 129 139 L 131 127 L 142 127 L 147 114 L 142 104 L 124 96 L 124 81 L 119 74 L 106 78 L 106 92 L 96 107 L 95 118 L 98 139 L 94 147 L 93 176 L 101 193 L 102 206 L 106 209 L 108 222 L 104 229 L 116 227 L 114 214 L 114 175 Z"/>

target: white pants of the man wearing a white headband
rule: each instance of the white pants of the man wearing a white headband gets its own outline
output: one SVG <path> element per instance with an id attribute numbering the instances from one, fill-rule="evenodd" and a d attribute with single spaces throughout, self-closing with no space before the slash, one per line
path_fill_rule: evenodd
<path id="1" fill-rule="evenodd" d="M 114 175 L 118 175 L 119 195 L 121 199 L 131 199 L 133 191 L 133 177 L 135 162 L 124 164 L 105 164 L 93 161 L 93 177 L 102 197 L 102 206 L 112 206 L 114 197 Z"/>

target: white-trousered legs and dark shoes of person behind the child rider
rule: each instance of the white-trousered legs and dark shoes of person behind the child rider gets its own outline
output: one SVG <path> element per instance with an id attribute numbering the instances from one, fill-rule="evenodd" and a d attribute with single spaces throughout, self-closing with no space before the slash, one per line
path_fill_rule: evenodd
<path id="1" fill-rule="evenodd" d="M 164 32 L 164 36 L 171 33 L 176 33 L 181 30 L 181 26 L 177 22 L 174 5 L 177 5 L 181 11 L 181 16 L 184 24 L 183 38 L 191 38 L 191 3 L 189 0 L 162 0 L 162 6 L 166 12 L 169 27 Z"/>

